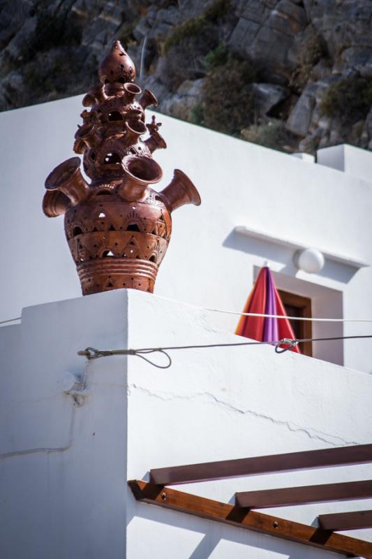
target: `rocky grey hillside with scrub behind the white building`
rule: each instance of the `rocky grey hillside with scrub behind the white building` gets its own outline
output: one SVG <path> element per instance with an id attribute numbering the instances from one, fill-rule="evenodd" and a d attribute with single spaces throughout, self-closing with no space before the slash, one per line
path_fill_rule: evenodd
<path id="1" fill-rule="evenodd" d="M 372 150 L 371 0 L 0 0 L 0 109 L 86 92 L 114 38 L 158 110 L 276 149 Z"/>

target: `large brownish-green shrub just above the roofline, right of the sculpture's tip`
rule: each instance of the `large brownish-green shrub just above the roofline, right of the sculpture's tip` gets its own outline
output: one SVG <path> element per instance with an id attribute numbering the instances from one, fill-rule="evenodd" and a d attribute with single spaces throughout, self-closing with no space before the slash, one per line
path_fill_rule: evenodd
<path id="1" fill-rule="evenodd" d="M 253 122 L 251 84 L 255 79 L 255 68 L 251 64 L 232 57 L 209 72 L 202 87 L 201 124 L 239 136 L 241 129 Z"/>

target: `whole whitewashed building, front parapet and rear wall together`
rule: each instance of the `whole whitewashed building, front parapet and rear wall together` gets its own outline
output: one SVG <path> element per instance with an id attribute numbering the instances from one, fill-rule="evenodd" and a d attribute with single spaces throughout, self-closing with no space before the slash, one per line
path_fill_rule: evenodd
<path id="1" fill-rule="evenodd" d="M 371 442 L 372 340 L 313 342 L 315 358 L 271 347 L 174 351 L 168 370 L 135 356 L 86 368 L 77 351 L 239 341 L 237 315 L 205 309 L 239 312 L 265 261 L 279 289 L 311 300 L 313 317 L 371 319 L 372 154 L 332 147 L 315 164 L 162 117 L 169 147 L 155 159 L 164 184 L 181 168 L 202 205 L 174 213 L 154 296 L 82 298 L 63 221 L 41 211 L 45 177 L 72 155 L 80 103 L 0 115 L 0 320 L 22 312 L 0 331 L 1 556 L 331 558 L 135 502 L 126 481 L 147 479 L 150 468 Z M 307 247 L 325 257 L 319 273 L 295 266 Z M 314 322 L 312 335 L 369 335 L 371 326 Z M 306 470 L 183 491 L 232 502 L 235 491 L 362 480 L 371 471 Z M 278 516 L 311 525 L 325 512 L 371 508 L 372 500 L 308 504 Z M 372 542 L 372 531 L 355 537 Z"/>

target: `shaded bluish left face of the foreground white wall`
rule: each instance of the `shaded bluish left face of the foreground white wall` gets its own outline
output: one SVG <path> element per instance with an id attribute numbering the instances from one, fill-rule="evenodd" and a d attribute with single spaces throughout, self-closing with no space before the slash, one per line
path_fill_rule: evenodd
<path id="1" fill-rule="evenodd" d="M 124 365 L 92 363 L 82 407 L 64 388 L 84 382 L 77 351 L 126 335 L 124 293 L 30 307 L 1 329 L 2 558 L 125 556 Z"/>

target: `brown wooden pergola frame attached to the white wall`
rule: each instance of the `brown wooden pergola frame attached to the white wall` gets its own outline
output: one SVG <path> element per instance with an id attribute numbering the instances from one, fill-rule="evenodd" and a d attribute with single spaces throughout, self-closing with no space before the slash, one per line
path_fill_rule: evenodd
<path id="1" fill-rule="evenodd" d="M 176 484 L 195 483 L 195 481 L 363 463 L 372 463 L 372 444 L 163 467 L 151 470 L 149 482 L 131 480 L 128 481 L 128 485 L 138 501 L 289 539 L 292 542 L 315 546 L 327 551 L 335 551 L 350 557 L 359 556 L 372 559 L 371 542 L 337 533 L 340 530 L 372 528 L 372 510 L 322 514 L 318 516 L 318 528 L 254 510 L 315 502 L 372 498 L 372 480 L 245 491 L 235 493 L 235 504 L 191 495 L 169 487 Z"/>

